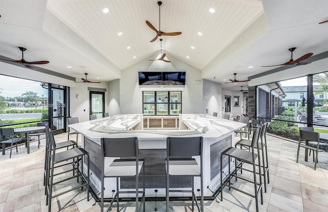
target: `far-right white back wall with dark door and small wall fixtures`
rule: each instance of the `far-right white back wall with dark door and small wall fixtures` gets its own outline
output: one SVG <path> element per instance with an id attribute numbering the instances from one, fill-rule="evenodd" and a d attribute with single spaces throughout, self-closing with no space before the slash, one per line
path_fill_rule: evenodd
<path id="1" fill-rule="evenodd" d="M 230 118 L 232 117 L 237 117 L 237 115 L 241 115 L 243 113 L 243 106 L 244 106 L 244 94 L 243 92 L 238 92 L 238 91 L 230 91 L 230 90 L 223 90 L 222 89 L 222 106 L 224 106 L 224 96 L 225 95 L 230 95 L 231 96 L 231 112 L 227 112 L 230 114 Z M 234 97 L 239 96 L 239 107 L 235 107 L 235 101 Z M 225 108 L 224 108 L 225 109 Z M 222 111 L 222 115 L 224 113 L 224 109 Z"/>

